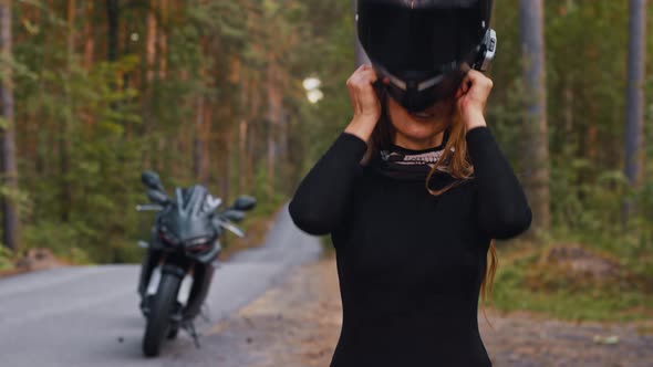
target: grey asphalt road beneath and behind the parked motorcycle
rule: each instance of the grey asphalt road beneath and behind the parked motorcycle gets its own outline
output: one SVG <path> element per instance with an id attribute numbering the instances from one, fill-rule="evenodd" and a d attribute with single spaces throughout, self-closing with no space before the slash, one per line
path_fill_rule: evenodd
<path id="1" fill-rule="evenodd" d="M 216 272 L 207 302 L 210 322 L 198 319 L 199 332 L 210 331 L 320 251 L 319 240 L 298 230 L 282 210 L 262 247 L 237 254 Z M 197 350 L 182 332 L 164 345 L 160 357 L 144 358 L 137 277 L 137 265 L 115 265 L 0 280 L 0 366 L 218 366 L 210 352 L 231 353 L 213 345 L 219 342 L 216 335 L 203 337 Z"/>

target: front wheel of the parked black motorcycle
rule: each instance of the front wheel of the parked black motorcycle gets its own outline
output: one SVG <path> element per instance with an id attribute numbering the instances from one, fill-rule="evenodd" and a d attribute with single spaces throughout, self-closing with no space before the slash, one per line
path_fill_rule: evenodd
<path id="1" fill-rule="evenodd" d="M 159 355 L 163 340 L 170 332 L 170 313 L 177 302 L 180 283 L 182 280 L 173 274 L 162 275 L 158 290 L 152 298 L 143 337 L 143 353 L 147 357 Z"/>

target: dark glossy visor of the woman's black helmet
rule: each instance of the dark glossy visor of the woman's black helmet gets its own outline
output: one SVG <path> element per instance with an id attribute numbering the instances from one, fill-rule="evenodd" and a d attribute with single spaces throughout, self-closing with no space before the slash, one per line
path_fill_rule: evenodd
<path id="1" fill-rule="evenodd" d="M 484 32 L 476 7 L 410 9 L 384 1 L 359 6 L 361 43 L 370 59 L 390 72 L 439 72 L 445 64 L 469 61 Z"/>

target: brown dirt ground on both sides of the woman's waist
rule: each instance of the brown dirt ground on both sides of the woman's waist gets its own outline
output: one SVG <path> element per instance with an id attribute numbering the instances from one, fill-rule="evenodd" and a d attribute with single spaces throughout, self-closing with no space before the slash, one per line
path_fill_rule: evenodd
<path id="1" fill-rule="evenodd" d="M 329 366 L 341 326 L 333 259 L 299 268 L 279 286 L 210 334 L 229 335 L 247 352 L 247 367 Z M 552 321 L 529 313 L 479 314 L 481 337 L 496 367 L 652 367 L 653 335 L 638 324 Z"/>

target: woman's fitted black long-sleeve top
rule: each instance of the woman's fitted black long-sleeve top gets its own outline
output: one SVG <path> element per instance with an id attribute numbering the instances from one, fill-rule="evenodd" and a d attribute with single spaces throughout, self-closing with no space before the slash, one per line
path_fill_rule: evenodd
<path id="1" fill-rule="evenodd" d="M 336 250 L 343 324 L 332 367 L 491 366 L 477 322 L 487 251 L 526 231 L 531 211 L 490 130 L 466 139 L 474 179 L 439 197 L 424 179 L 362 166 L 367 146 L 348 133 L 300 184 L 294 223 L 331 233 Z"/>

